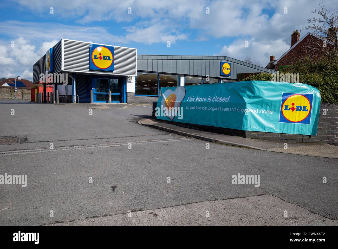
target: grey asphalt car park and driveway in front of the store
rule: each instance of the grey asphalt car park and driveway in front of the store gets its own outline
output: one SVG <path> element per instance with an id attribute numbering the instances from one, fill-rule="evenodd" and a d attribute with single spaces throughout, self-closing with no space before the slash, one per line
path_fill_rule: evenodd
<path id="1" fill-rule="evenodd" d="M 0 145 L 1 151 L 49 148 L 51 142 L 54 147 L 96 145 L 0 155 L 0 174 L 27 175 L 27 187 L 0 185 L 1 225 L 70 222 L 261 194 L 338 218 L 336 159 L 221 144 L 206 149 L 205 141 L 138 124 L 151 115 L 151 106 L 109 107 L 93 109 L 90 116 L 80 105 L 0 100 L 0 136 L 28 139 Z M 237 173 L 260 175 L 260 187 L 233 185 Z"/>

